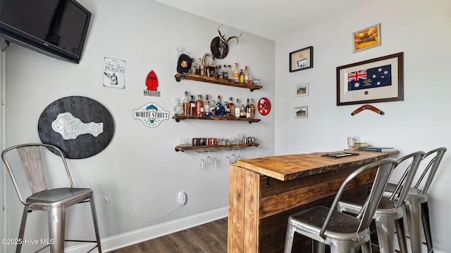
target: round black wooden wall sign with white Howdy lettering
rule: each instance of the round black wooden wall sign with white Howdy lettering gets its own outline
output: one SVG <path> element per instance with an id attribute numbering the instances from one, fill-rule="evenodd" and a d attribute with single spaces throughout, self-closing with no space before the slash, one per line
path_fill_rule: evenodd
<path id="1" fill-rule="evenodd" d="M 45 108 L 37 131 L 42 143 L 61 148 L 67 158 L 81 159 L 106 148 L 113 138 L 114 122 L 110 112 L 96 100 L 68 96 Z"/>

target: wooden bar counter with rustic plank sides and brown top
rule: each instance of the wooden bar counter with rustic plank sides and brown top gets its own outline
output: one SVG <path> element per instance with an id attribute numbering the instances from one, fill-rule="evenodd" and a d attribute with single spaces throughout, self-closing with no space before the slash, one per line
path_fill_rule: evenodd
<path id="1" fill-rule="evenodd" d="M 341 152 L 359 155 L 321 156 Z M 230 164 L 228 252 L 283 252 L 290 214 L 314 205 L 329 206 L 352 171 L 398 152 L 328 153 L 262 157 Z M 369 171 L 350 183 L 348 193 L 367 190 L 374 173 Z M 293 252 L 310 252 L 309 245 L 311 240 L 297 234 Z"/>

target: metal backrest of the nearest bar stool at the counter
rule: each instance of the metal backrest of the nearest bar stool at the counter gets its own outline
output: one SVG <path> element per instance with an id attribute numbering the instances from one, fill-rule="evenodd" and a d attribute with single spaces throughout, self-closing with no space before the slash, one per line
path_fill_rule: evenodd
<path id="1" fill-rule="evenodd" d="M 360 219 L 359 231 L 357 231 L 357 233 L 364 231 L 366 228 L 368 228 L 369 224 L 373 220 L 374 213 L 376 212 L 379 202 L 381 201 L 381 197 L 383 195 L 383 191 L 385 190 L 385 186 L 387 186 L 388 179 L 390 178 L 390 175 L 396 164 L 397 164 L 396 159 L 384 158 L 382 160 L 366 164 L 360 167 L 359 169 L 356 169 L 349 176 L 347 176 L 345 181 L 343 181 L 340 188 L 338 189 L 337 195 L 335 195 L 335 199 L 333 200 L 333 203 L 330 206 L 328 215 L 326 216 L 326 219 L 323 223 L 323 227 L 321 228 L 319 236 L 321 236 L 321 238 L 324 237 L 324 232 L 326 231 L 328 223 L 332 218 L 333 212 L 335 212 L 337 208 L 337 204 L 340 201 L 342 194 L 345 192 L 347 184 L 350 183 L 350 181 L 352 181 L 356 176 L 363 173 L 364 171 L 369 171 L 371 169 L 377 168 L 373 186 L 371 187 L 371 192 L 369 193 L 368 198 L 364 202 L 364 205 L 360 213 L 357 215 L 357 218 Z"/>

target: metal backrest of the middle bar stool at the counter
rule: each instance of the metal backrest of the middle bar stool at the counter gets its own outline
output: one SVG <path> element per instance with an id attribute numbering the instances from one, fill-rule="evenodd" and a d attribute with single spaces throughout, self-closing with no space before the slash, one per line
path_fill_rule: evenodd
<path id="1" fill-rule="evenodd" d="M 390 197 L 390 200 L 394 200 L 396 202 L 396 208 L 401 207 L 407 193 L 409 193 L 409 188 L 412 186 L 416 171 L 418 170 L 424 154 L 425 153 L 423 151 L 418 151 L 405 155 L 397 160 L 398 164 L 396 167 L 400 167 L 400 164 L 406 161 L 410 161 L 410 164 L 407 169 L 405 169 L 404 174 L 402 174 L 400 181 L 397 183 L 397 186 Z"/>

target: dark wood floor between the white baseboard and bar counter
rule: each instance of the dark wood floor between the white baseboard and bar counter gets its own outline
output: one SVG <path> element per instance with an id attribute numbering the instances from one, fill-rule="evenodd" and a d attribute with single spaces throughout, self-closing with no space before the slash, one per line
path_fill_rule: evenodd
<path id="1" fill-rule="evenodd" d="M 227 218 L 116 249 L 110 253 L 226 253 Z"/>

